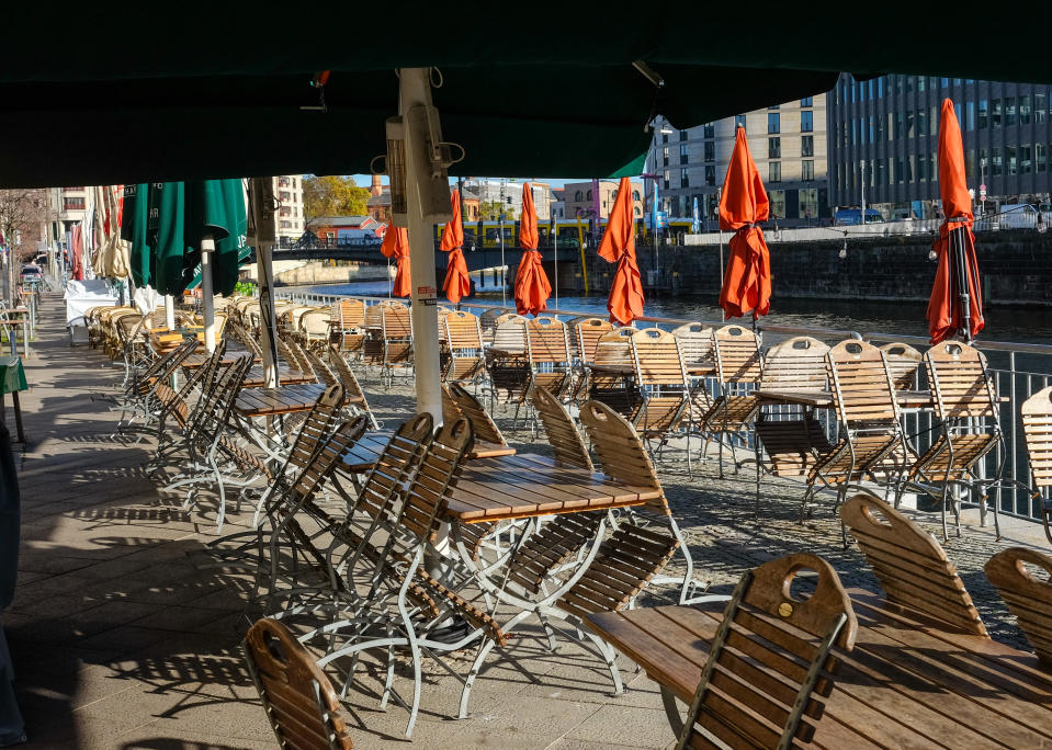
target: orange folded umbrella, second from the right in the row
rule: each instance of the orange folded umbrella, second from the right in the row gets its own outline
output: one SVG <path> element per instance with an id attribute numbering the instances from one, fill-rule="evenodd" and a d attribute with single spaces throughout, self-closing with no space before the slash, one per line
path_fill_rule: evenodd
<path id="1" fill-rule="evenodd" d="M 746 312 L 756 320 L 771 309 L 771 255 L 758 226 L 769 215 L 767 191 L 749 154 L 745 128 L 739 126 L 720 197 L 720 228 L 734 232 L 720 292 L 720 307 L 727 320 Z"/>

